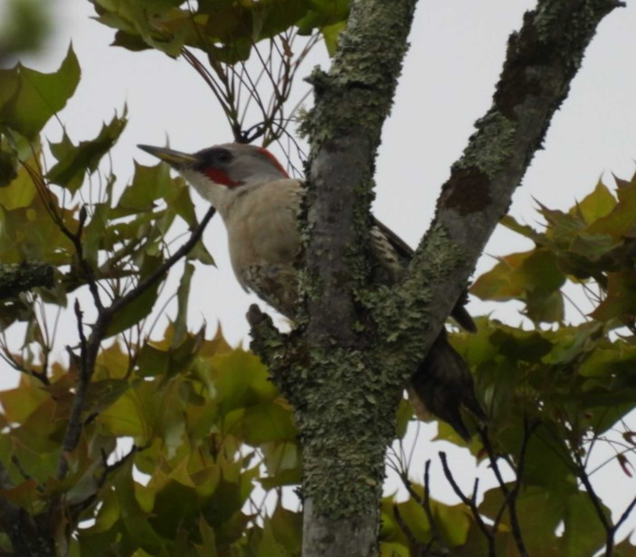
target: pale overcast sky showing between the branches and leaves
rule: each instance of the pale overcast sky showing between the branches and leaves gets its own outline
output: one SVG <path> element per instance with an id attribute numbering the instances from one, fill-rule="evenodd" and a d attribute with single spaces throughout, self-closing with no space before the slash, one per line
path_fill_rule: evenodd
<path id="1" fill-rule="evenodd" d="M 551 208 L 567 209 L 575 199 L 591 192 L 600 175 L 607 176 L 609 185 L 611 172 L 623 178 L 632 176 L 636 157 L 636 2 L 628 3 L 628 8 L 615 10 L 600 25 L 569 98 L 553 118 L 545 150 L 537 153 L 513 198 L 510 213 L 522 222 L 535 225 L 539 220 L 532 197 Z M 439 188 L 466 146 L 474 120 L 490 106 L 509 33 L 520 27 L 523 12 L 534 4 L 530 0 L 420 2 L 396 103 L 384 127 L 374 204 L 375 215 L 411 245 L 424 234 Z M 137 143 L 165 145 L 169 136 L 173 148 L 192 152 L 230 141 L 228 125 L 214 97 L 184 60 L 172 60 L 155 51 L 131 53 L 109 47 L 114 31 L 90 20 L 92 5 L 86 1 L 57 0 L 54 6 L 55 33 L 45 54 L 25 57 L 24 62 L 41 71 L 53 71 L 64 58 L 69 40 L 73 41 L 82 78 L 59 116 L 75 143 L 95 137 L 102 120 L 109 120 L 113 109 L 121 111 L 124 102 L 128 103 L 130 121 L 112 151 L 120 187 L 132 176 L 133 157 L 143 164 L 155 164 L 155 159 L 135 148 Z M 323 45 L 314 49 L 304 74 L 315 64 L 324 69 L 329 66 Z M 297 85 L 296 99 L 307 90 L 300 80 Z M 57 122 L 45 129 L 45 136 L 52 141 L 59 141 L 61 133 Z M 205 208 L 198 200 L 200 215 Z M 233 278 L 220 218 L 207 227 L 204 241 L 218 269 L 200 267 L 195 273 L 191 327 L 197 328 L 205 318 L 211 335 L 219 320 L 232 344 L 247 341 L 244 315 L 256 298 L 245 295 Z M 500 227 L 486 253 L 506 255 L 530 248 L 529 241 Z M 484 255 L 475 276 L 492 265 L 492 257 Z M 177 266 L 172 272 L 165 292 L 174 292 L 180 269 Z M 589 309 L 576 288 L 569 292 L 584 310 Z M 473 314 L 492 312 L 495 318 L 516 325 L 522 320 L 517 313 L 520 307 L 471 299 L 468 309 Z M 579 319 L 571 307 L 567 312 L 569 318 Z M 73 335 L 73 341 L 64 341 L 73 344 L 74 320 L 63 323 L 60 337 Z M 9 372 L 0 376 L 3 384 L 15 380 Z M 425 458 L 434 458 L 432 496 L 457 502 L 443 479 L 437 451 L 448 452 L 455 477 L 466 491 L 476 474 L 473 459 L 464 449 L 429 443 L 435 431 L 435 426 L 422 427 L 413 457 L 413 477 L 421 482 Z M 593 462 L 611 456 L 607 451 L 598 453 Z M 484 478 L 482 489 L 493 485 L 485 465 L 478 473 Z M 636 479 L 626 477 L 616 462 L 595 474 L 593 481 L 615 518 L 636 494 Z M 395 481 L 387 481 L 387 493 L 395 489 Z M 633 514 L 621 528 L 622 535 L 635 527 Z"/>

